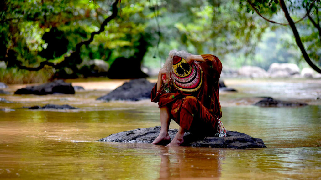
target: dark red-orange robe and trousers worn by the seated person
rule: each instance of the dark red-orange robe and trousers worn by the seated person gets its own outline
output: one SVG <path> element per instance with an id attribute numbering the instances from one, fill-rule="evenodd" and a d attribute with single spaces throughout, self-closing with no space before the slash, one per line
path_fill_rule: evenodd
<path id="1" fill-rule="evenodd" d="M 170 118 L 191 133 L 215 135 L 222 116 L 219 101 L 219 79 L 222 71 L 221 61 L 214 55 L 201 55 L 199 62 L 203 70 L 202 86 L 195 92 L 184 92 L 174 86 L 169 93 L 164 84 L 157 91 L 157 83 L 152 89 L 151 100 L 158 102 L 159 108 L 167 106 Z"/>

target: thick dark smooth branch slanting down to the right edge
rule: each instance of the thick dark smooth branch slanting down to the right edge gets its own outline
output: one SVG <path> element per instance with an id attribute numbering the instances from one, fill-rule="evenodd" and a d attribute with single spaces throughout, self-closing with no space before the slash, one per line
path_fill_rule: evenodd
<path id="1" fill-rule="evenodd" d="M 282 10 L 284 12 L 285 18 L 288 20 L 289 25 L 290 25 L 290 27 L 291 27 L 291 29 L 293 31 L 293 35 L 295 37 L 295 41 L 296 41 L 297 45 L 299 46 L 299 48 L 300 48 L 300 50 L 302 52 L 304 60 L 307 61 L 307 63 L 311 66 L 311 68 L 313 68 L 314 70 L 316 70 L 318 73 L 321 74 L 321 70 L 315 64 L 313 64 L 313 62 L 310 60 L 310 57 L 309 57 L 308 53 L 304 49 L 304 46 L 303 46 L 302 41 L 300 39 L 299 32 L 298 32 L 297 28 L 295 27 L 295 24 L 294 24 L 289 12 L 288 12 L 288 9 L 287 9 L 287 7 L 286 7 L 286 5 L 284 3 L 284 0 L 279 0 L 279 1 L 280 1 L 280 6 L 281 6 L 281 8 L 282 8 Z"/>

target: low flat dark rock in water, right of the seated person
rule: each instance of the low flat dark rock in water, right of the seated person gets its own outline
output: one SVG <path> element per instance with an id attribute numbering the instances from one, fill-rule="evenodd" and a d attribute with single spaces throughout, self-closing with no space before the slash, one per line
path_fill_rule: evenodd
<path id="1" fill-rule="evenodd" d="M 262 99 L 259 102 L 256 102 L 254 105 L 276 107 L 276 106 L 306 106 L 308 104 L 303 102 L 280 101 L 280 100 L 275 100 L 272 97 L 264 97 L 264 99 Z"/>

